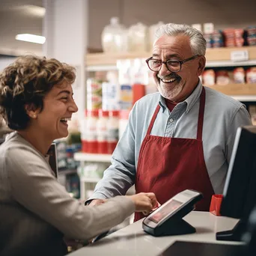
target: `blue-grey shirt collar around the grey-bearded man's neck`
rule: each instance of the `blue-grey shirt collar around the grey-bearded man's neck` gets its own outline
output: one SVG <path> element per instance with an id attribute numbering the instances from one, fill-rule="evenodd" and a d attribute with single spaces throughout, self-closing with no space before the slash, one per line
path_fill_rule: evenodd
<path id="1" fill-rule="evenodd" d="M 194 106 L 195 103 L 197 102 L 198 98 L 201 95 L 201 91 L 202 91 L 202 84 L 201 84 L 201 80 L 199 80 L 198 85 L 195 87 L 195 90 L 192 92 L 192 94 L 190 94 L 189 97 L 186 98 L 186 100 L 184 100 L 181 103 L 178 103 L 177 105 L 186 104 L 186 114 L 187 114 L 190 111 L 190 109 L 192 109 L 192 106 Z M 165 109 L 167 109 L 165 98 L 162 97 L 161 94 L 159 96 L 159 106 L 161 107 L 162 112 L 165 112 Z"/>

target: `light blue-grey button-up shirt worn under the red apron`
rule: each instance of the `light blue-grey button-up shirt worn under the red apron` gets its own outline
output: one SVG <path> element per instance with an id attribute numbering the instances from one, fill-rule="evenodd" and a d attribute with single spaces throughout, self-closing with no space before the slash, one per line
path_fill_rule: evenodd
<path id="1" fill-rule="evenodd" d="M 124 195 L 135 183 L 139 150 L 157 104 L 161 109 L 151 135 L 196 138 L 201 90 L 202 85 L 199 82 L 193 93 L 182 103 L 178 103 L 172 112 L 168 110 L 165 99 L 159 93 L 149 94 L 138 100 L 130 112 L 124 135 L 112 155 L 112 165 L 97 183 L 91 199 Z M 204 161 L 213 189 L 219 194 L 224 187 L 237 128 L 251 125 L 252 121 L 246 107 L 239 101 L 211 88 L 206 87 L 205 91 Z"/>

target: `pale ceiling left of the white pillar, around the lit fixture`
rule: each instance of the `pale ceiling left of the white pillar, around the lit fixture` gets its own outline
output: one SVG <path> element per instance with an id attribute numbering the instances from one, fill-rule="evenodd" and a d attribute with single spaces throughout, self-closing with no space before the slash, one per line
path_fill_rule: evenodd
<path id="1" fill-rule="evenodd" d="M 42 52 L 41 44 L 15 40 L 16 34 L 42 35 L 43 16 L 31 5 L 43 7 L 42 0 L 0 0 L 0 55 Z"/>

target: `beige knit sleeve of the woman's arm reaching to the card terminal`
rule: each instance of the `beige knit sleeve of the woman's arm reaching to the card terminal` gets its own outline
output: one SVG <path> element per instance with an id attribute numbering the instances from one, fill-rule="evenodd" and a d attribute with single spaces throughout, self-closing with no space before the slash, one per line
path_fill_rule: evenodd
<path id="1" fill-rule="evenodd" d="M 127 197 L 85 207 L 70 197 L 44 159 L 30 150 L 13 147 L 4 159 L 13 199 L 66 237 L 88 240 L 123 222 L 135 210 Z"/>

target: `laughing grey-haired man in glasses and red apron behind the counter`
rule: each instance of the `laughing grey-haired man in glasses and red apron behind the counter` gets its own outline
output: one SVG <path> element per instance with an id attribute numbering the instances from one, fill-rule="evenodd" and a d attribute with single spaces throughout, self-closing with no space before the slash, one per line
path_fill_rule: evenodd
<path id="1" fill-rule="evenodd" d="M 237 127 L 251 119 L 242 103 L 201 85 L 205 51 L 203 35 L 188 25 L 156 31 L 147 65 L 159 92 L 135 103 L 91 205 L 133 184 L 137 193 L 154 192 L 160 204 L 196 189 L 204 194 L 196 210 L 209 210 L 211 196 L 222 193 Z"/>

